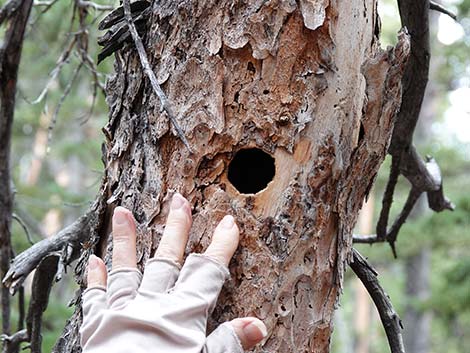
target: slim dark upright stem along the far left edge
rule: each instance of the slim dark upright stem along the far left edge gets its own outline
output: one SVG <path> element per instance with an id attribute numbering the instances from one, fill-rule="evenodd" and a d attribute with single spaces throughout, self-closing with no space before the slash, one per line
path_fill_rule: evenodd
<path id="1" fill-rule="evenodd" d="M 11 129 L 15 111 L 15 95 L 23 38 L 33 1 L 9 1 L 0 10 L 0 24 L 9 20 L 9 26 L 0 48 L 0 272 L 3 276 L 10 266 L 11 217 L 13 193 L 10 177 Z M 6 9 L 6 10 L 5 10 Z M 2 328 L 10 332 L 10 296 L 8 289 L 1 289 Z"/>

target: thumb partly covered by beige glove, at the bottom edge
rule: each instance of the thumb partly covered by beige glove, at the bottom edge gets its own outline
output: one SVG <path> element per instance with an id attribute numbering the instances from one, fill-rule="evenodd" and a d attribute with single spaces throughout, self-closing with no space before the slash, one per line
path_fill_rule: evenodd
<path id="1" fill-rule="evenodd" d="M 266 326 L 254 317 L 226 322 L 212 332 L 206 340 L 203 353 L 243 353 L 267 336 Z"/>

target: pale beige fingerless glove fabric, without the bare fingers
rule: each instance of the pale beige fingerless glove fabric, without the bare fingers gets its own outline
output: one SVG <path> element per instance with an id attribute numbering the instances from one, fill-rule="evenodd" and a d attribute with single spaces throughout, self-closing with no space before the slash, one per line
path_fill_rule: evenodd
<path id="1" fill-rule="evenodd" d="M 207 318 L 229 277 L 228 269 L 204 255 L 176 263 L 152 259 L 145 274 L 112 271 L 107 288 L 83 293 L 84 353 L 242 353 L 230 324 L 206 337 Z"/>

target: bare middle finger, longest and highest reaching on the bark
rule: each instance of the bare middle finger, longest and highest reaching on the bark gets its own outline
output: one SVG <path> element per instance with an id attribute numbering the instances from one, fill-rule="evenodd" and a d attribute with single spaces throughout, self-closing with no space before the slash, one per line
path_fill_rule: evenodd
<path id="1" fill-rule="evenodd" d="M 191 206 L 189 202 L 180 194 L 174 194 L 165 230 L 155 252 L 155 257 L 181 264 L 191 223 Z"/>

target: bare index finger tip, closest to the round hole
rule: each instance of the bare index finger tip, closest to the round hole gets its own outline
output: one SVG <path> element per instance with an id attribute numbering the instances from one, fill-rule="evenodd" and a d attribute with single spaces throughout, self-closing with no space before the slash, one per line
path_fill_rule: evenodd
<path id="1" fill-rule="evenodd" d="M 228 266 L 237 249 L 239 230 L 232 216 L 225 216 L 214 231 L 212 242 L 204 253 Z"/>

